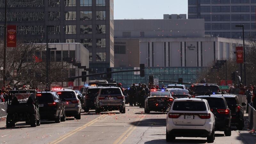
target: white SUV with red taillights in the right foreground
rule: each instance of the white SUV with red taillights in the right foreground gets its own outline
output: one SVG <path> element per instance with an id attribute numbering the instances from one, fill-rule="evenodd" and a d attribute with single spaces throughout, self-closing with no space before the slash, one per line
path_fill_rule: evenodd
<path id="1" fill-rule="evenodd" d="M 207 100 L 175 99 L 166 118 L 166 141 L 176 137 L 207 137 L 207 143 L 212 143 L 215 139 L 214 123 Z"/>

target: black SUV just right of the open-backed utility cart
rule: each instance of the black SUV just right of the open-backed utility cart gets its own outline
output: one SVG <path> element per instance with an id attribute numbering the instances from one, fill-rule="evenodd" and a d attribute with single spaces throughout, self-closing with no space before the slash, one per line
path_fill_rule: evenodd
<path id="1" fill-rule="evenodd" d="M 54 120 L 55 123 L 66 120 L 65 103 L 56 92 L 38 92 L 36 96 L 41 119 Z"/>

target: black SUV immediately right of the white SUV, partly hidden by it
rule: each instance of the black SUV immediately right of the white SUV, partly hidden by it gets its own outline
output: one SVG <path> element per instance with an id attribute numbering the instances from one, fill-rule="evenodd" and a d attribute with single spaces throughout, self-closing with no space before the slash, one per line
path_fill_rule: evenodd
<path id="1" fill-rule="evenodd" d="M 215 116 L 215 131 L 224 131 L 226 136 L 231 136 L 231 111 L 225 98 L 221 94 L 196 96 L 196 98 L 205 99 Z"/>

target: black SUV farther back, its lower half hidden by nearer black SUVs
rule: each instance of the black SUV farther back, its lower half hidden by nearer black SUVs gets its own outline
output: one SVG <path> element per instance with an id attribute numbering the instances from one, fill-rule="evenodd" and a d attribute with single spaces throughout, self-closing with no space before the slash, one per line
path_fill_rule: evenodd
<path id="1" fill-rule="evenodd" d="M 199 95 L 224 94 L 221 93 L 217 84 L 192 84 L 190 86 L 190 94 L 192 97 Z"/>

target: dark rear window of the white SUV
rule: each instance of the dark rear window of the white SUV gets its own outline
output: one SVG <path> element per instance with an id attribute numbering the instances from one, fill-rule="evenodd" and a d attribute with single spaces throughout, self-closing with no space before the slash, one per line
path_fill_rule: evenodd
<path id="1" fill-rule="evenodd" d="M 176 111 L 206 111 L 205 102 L 199 101 L 176 101 L 172 110 Z"/>

